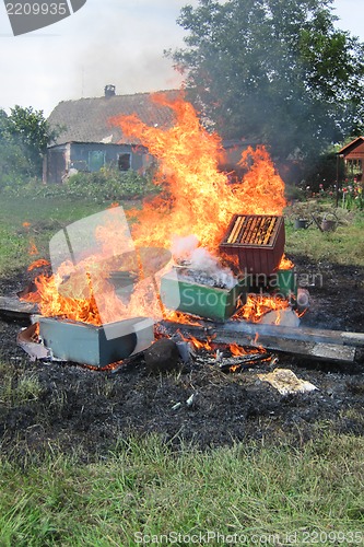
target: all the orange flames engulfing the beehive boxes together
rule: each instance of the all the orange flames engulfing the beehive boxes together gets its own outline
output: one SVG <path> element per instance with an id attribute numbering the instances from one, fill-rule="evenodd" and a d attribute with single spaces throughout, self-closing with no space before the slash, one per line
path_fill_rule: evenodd
<path id="1" fill-rule="evenodd" d="M 284 183 L 263 147 L 245 150 L 240 166 L 246 168 L 246 174 L 240 182 L 231 184 L 228 175 L 219 171 L 221 138 L 202 127 L 192 105 L 183 97 L 172 102 L 156 95 L 154 101 L 173 110 L 173 127 L 148 127 L 134 115 L 111 120 L 121 127 L 125 136 L 146 147 L 158 161 L 154 184 L 163 191 L 145 200 L 141 210 L 129 212 L 129 218 L 136 220 L 131 232 L 137 259 L 131 253 L 130 259 L 125 258 L 122 265 L 117 261 L 118 255 L 125 257 L 128 253 L 125 252 L 125 226 L 115 221 L 117 203 L 113 203 L 107 210 L 108 222 L 99 225 L 95 234 L 102 251 L 84 257 L 77 266 L 64 260 L 52 276 L 40 275 L 35 279 L 43 315 L 95 325 L 131 316 L 154 317 L 161 312 L 165 316 L 161 301 L 155 298 L 154 278 L 151 283 L 146 266 L 150 260 L 143 260 L 138 249 L 171 248 L 175 236 L 193 234 L 201 247 L 216 254 L 234 213 L 282 214 Z M 124 242 L 121 252 L 120 242 Z M 32 252 L 37 252 L 35 245 Z M 138 278 L 128 302 L 117 296 L 110 280 L 113 271 L 131 271 Z M 280 306 L 283 309 L 285 304 L 282 302 Z M 243 317 L 258 321 L 272 309 L 277 309 L 275 301 L 251 298 L 244 306 Z M 175 317 L 168 316 L 169 321 Z M 191 322 L 181 315 L 177 321 Z"/>

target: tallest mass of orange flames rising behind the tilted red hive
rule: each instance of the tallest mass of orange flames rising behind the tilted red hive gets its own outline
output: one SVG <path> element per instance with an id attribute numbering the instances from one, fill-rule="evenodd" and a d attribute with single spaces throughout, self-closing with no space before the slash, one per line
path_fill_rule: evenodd
<path id="1" fill-rule="evenodd" d="M 154 100 L 174 112 L 172 128 L 148 127 L 134 115 L 111 119 L 158 160 L 154 184 L 166 181 L 167 199 L 157 196 L 141 211 L 131 212 L 138 220 L 133 229 L 138 244 L 171 246 L 173 236 L 193 234 L 202 247 L 216 252 L 234 213 L 282 213 L 284 183 L 263 147 L 249 147 L 243 153 L 240 164 L 247 174 L 232 185 L 218 168 L 222 141 L 202 127 L 192 105 L 181 97 L 171 102 L 156 95 Z"/>

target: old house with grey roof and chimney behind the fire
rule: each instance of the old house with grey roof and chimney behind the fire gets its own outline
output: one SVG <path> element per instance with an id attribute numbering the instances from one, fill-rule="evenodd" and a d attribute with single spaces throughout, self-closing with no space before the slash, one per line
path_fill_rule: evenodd
<path id="1" fill-rule="evenodd" d="M 176 98 L 178 93 L 176 90 L 163 92 L 167 100 Z M 145 170 L 152 162 L 148 150 L 109 123 L 114 116 L 131 114 L 149 126 L 173 124 L 171 108 L 154 103 L 152 93 L 117 95 L 114 85 L 106 85 L 102 97 L 59 103 L 48 123 L 51 128 L 61 127 L 62 131 L 47 149 L 44 182 L 62 183 L 70 173 L 95 172 L 106 165 L 120 171 Z"/>

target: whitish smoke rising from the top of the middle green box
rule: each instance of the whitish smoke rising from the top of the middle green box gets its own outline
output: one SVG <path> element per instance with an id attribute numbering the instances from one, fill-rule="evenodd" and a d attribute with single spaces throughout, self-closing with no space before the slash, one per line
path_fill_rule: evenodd
<path id="1" fill-rule="evenodd" d="M 174 237 L 172 254 L 176 263 L 184 268 L 179 277 L 209 287 L 232 289 L 236 278 L 230 268 L 223 267 L 218 257 L 206 248 L 199 247 L 196 235 Z"/>

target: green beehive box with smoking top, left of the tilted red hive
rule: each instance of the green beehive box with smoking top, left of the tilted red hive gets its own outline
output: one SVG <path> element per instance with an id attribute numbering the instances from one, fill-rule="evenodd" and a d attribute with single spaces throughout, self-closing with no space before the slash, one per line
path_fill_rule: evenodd
<path id="1" fill-rule="evenodd" d="M 238 299 L 246 290 L 244 282 L 232 289 L 220 289 L 187 281 L 171 274 L 161 279 L 161 299 L 167 309 L 220 322 L 234 315 Z"/>

